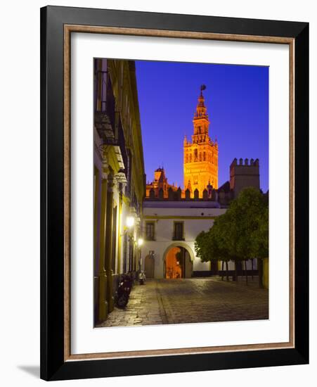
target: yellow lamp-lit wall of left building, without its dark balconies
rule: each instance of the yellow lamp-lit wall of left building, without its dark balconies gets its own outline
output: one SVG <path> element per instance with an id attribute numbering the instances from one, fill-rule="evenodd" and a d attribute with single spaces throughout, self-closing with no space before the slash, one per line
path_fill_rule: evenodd
<path id="1" fill-rule="evenodd" d="M 127 258 L 127 254 L 124 255 L 122 235 L 124 234 L 124 227 L 126 224 L 125 222 L 128 216 L 133 215 L 136 218 L 138 217 L 138 222 L 136 222 L 134 226 L 134 239 L 136 240 L 136 236 L 140 234 L 139 222 L 142 211 L 142 201 L 145 195 L 145 170 L 134 61 L 112 59 L 98 59 L 98 61 L 98 70 L 107 70 L 107 73 L 110 76 L 113 96 L 115 97 L 115 123 L 119 122 L 120 119 L 122 130 L 124 132 L 124 143 L 122 141 L 122 144 L 120 145 L 124 144 L 126 150 L 129 151 L 129 154 L 131 154 L 131 180 L 128 182 L 131 197 L 125 198 L 122 189 L 119 186 L 119 178 L 121 177 L 119 175 L 119 178 L 117 179 L 116 175 L 120 170 L 120 163 L 122 163 L 122 160 L 118 158 L 117 151 L 114 146 L 103 146 L 102 155 L 100 155 L 100 161 L 101 165 L 106 165 L 106 170 L 103 171 L 101 165 L 96 166 L 98 167 L 98 171 L 95 170 L 95 189 L 98 182 L 98 176 L 103 180 L 101 184 L 98 184 L 101 186 L 99 187 L 98 192 L 98 195 L 101 197 L 101 208 L 99 211 L 95 210 L 94 215 L 95 246 L 97 245 L 98 240 L 98 251 L 103 248 L 102 253 L 98 253 L 99 259 L 96 259 L 95 262 L 95 322 L 103 322 L 107 318 L 108 313 L 110 313 L 113 309 L 113 296 L 115 294 L 114 284 L 116 283 L 114 278 L 118 274 L 122 273 L 125 269 L 123 262 L 125 258 Z M 104 66 L 102 65 L 101 61 L 103 61 Z M 100 78 L 100 80 L 98 80 L 97 77 L 95 78 L 98 84 L 103 84 L 102 79 L 103 78 Z M 98 93 L 97 95 L 96 106 L 99 109 L 101 108 L 101 93 Z M 97 131 L 96 134 L 96 137 L 94 137 L 95 149 L 100 149 L 101 139 L 99 139 Z M 125 167 L 127 167 L 127 165 Z M 97 172 L 99 175 L 97 175 Z M 111 175 L 113 179 L 103 179 L 102 172 L 107 172 L 107 176 Z M 112 190 L 108 190 L 109 182 L 111 182 L 113 185 Z M 103 191 L 102 186 L 104 187 Z M 131 198 L 136 198 L 136 201 L 133 200 L 132 204 L 130 205 Z M 140 211 L 136 211 L 133 206 L 135 206 L 136 209 Z M 114 223 L 112 220 L 114 208 L 117 210 L 116 223 Z M 110 215 L 108 216 L 107 213 Z M 101 226 L 98 226 L 98 224 L 103 224 L 103 229 L 101 229 Z M 107 239 L 110 241 L 110 243 L 103 243 L 103 245 L 100 246 L 100 241 L 105 241 L 106 232 Z M 99 239 L 97 238 L 97 235 L 100 236 Z M 111 236 L 114 235 L 115 239 L 112 239 Z M 112 243 L 114 244 L 112 245 Z M 112 247 L 114 246 L 115 253 L 112 255 Z M 107 251 L 105 251 L 106 248 L 108 249 Z M 113 259 L 115 259 L 115 265 L 113 265 Z M 98 264 L 100 267 L 97 266 Z"/>

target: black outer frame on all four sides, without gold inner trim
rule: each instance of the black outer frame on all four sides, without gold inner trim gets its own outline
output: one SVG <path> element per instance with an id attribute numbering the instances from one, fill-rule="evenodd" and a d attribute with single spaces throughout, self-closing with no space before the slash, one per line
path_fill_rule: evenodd
<path id="1" fill-rule="evenodd" d="M 96 8 L 41 8 L 41 379 L 306 364 L 309 356 L 308 262 L 306 267 L 296 265 L 295 269 L 295 349 L 64 362 L 63 227 L 60 227 L 63 224 L 64 24 L 296 38 L 295 259 L 300 255 L 308 257 L 308 23 Z M 305 200 L 299 201 L 296 197 Z"/>

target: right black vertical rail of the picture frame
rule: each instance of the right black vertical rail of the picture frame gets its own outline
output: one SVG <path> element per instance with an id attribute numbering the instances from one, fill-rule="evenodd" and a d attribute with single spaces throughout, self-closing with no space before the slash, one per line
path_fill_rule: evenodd
<path id="1" fill-rule="evenodd" d="M 297 258 L 297 259 L 296 259 Z M 304 262 L 303 262 L 304 261 Z M 295 39 L 295 348 L 309 362 L 309 24 Z"/>

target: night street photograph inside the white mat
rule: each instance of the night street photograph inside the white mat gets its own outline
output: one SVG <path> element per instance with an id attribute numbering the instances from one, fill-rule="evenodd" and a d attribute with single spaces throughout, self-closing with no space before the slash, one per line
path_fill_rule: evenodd
<path id="1" fill-rule="evenodd" d="M 93 58 L 94 328 L 269 319 L 269 75 Z"/>

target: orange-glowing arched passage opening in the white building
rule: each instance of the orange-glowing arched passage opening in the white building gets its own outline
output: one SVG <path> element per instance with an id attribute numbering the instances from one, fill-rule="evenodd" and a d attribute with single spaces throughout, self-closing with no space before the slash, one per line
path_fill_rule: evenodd
<path id="1" fill-rule="evenodd" d="M 171 246 L 165 255 L 165 273 L 167 279 L 190 278 L 193 274 L 193 262 L 189 251 L 183 246 Z"/>

